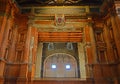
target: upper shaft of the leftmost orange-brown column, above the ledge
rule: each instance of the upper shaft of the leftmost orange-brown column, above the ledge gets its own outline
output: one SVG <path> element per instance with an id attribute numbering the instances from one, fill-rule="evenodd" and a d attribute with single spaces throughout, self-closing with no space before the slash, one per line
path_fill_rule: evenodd
<path id="1" fill-rule="evenodd" d="M 8 30 L 10 26 L 10 18 L 8 17 L 10 15 L 10 4 L 8 2 L 4 2 L 6 9 L 4 9 L 5 12 L 2 12 L 3 14 L 0 15 L 2 19 L 1 29 L 0 29 L 0 58 L 4 58 L 4 50 L 6 46 L 6 40 L 8 37 Z M 6 35 L 7 34 L 7 35 Z"/>

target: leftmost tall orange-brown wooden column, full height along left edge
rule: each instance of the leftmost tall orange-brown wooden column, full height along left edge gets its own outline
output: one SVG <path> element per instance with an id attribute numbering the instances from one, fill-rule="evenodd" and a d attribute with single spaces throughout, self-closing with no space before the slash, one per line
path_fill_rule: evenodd
<path id="1" fill-rule="evenodd" d="M 3 15 L 0 16 L 1 19 L 1 28 L 0 28 L 0 83 L 4 83 L 4 71 L 5 71 L 5 64 L 6 62 L 4 61 L 4 56 L 6 54 L 5 50 L 8 47 L 8 32 L 10 29 L 10 18 L 7 16 L 7 14 L 9 15 L 10 11 L 10 4 L 7 3 L 7 1 L 3 1 L 4 5 L 5 5 L 5 12 L 1 12 L 3 13 Z"/>

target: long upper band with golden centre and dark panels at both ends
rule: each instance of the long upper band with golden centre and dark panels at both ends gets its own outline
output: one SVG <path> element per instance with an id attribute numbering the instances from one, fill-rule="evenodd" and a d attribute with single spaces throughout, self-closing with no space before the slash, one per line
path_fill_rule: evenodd
<path id="1" fill-rule="evenodd" d="M 99 13 L 99 6 L 48 6 L 48 7 L 23 7 L 22 13 L 33 13 L 36 15 L 85 15 L 85 13 Z"/>

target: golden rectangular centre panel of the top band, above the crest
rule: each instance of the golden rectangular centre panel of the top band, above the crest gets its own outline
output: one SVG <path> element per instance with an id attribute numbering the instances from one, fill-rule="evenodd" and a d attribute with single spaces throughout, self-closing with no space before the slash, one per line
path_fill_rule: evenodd
<path id="1" fill-rule="evenodd" d="M 84 14 L 87 12 L 87 6 L 86 7 L 40 7 L 40 8 L 34 8 L 35 14 Z"/>

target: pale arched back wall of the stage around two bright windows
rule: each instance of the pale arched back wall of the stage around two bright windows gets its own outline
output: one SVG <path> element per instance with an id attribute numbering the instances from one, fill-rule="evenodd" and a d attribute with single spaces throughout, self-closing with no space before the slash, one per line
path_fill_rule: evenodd
<path id="1" fill-rule="evenodd" d="M 57 68 L 52 69 L 52 64 L 56 64 Z M 66 64 L 70 64 L 69 70 L 65 69 Z M 42 69 L 43 77 L 78 77 L 79 73 L 77 60 L 74 56 L 66 53 L 54 53 L 47 56 Z"/>

